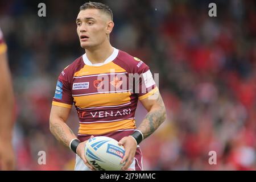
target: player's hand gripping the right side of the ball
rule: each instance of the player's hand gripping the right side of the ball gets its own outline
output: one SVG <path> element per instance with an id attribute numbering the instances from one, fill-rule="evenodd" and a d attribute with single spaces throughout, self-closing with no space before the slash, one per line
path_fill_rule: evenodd
<path id="1" fill-rule="evenodd" d="M 131 163 L 133 163 L 133 158 L 137 150 L 137 142 L 132 137 L 123 137 L 118 144 L 119 146 L 125 147 L 125 156 L 123 156 L 121 164 L 125 162 L 125 166 L 122 167 L 122 170 L 127 170 Z"/>

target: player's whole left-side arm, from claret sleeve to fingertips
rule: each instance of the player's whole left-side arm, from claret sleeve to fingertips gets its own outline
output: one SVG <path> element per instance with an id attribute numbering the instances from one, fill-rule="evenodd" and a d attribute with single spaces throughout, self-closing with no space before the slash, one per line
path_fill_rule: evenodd
<path id="1" fill-rule="evenodd" d="M 84 147 L 87 141 L 81 143 L 76 142 L 76 140 L 74 141 L 77 137 L 66 123 L 73 104 L 71 93 L 72 81 L 70 81 L 73 75 L 71 72 L 72 69 L 65 68 L 58 78 L 52 109 L 49 115 L 49 129 L 57 140 L 63 143 L 64 146 L 72 148 L 84 161 L 85 165 L 93 170 L 93 167 L 89 165 L 84 156 Z M 71 147 L 71 143 L 72 146 L 74 143 L 76 144 Z"/>

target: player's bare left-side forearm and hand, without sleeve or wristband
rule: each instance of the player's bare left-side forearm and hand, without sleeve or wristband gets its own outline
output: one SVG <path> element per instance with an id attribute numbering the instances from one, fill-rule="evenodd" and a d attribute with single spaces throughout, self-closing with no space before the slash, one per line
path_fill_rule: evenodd
<path id="1" fill-rule="evenodd" d="M 69 143 L 72 139 L 76 139 L 76 135 L 65 123 L 68 119 L 70 111 L 71 109 L 69 108 L 52 105 L 51 114 L 49 117 L 49 129 L 51 133 L 57 140 L 59 140 L 67 147 L 69 147 Z M 84 161 L 85 165 L 94 170 L 93 167 L 90 166 L 90 164 L 87 162 L 84 155 L 84 147 L 86 142 L 87 140 L 81 142 L 79 146 L 77 146 L 76 152 L 77 155 L 79 155 L 80 158 Z"/>

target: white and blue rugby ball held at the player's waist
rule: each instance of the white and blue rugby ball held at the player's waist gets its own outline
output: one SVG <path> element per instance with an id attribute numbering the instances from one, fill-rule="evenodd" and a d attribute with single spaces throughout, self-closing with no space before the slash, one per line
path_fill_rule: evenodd
<path id="1" fill-rule="evenodd" d="M 90 138 L 85 146 L 85 158 L 98 171 L 120 171 L 125 148 L 109 137 Z"/>

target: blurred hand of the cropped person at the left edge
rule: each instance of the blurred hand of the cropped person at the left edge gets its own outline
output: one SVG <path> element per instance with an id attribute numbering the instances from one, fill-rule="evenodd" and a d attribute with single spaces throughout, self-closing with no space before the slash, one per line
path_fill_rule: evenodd
<path id="1" fill-rule="evenodd" d="M 0 170 L 15 170 L 15 155 L 11 142 L 0 140 Z"/>

